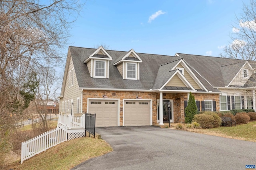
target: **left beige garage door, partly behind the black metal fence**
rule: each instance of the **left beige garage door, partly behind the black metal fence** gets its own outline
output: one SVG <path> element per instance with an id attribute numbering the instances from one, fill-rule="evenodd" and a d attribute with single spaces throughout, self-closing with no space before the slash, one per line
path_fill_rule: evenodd
<path id="1" fill-rule="evenodd" d="M 96 127 L 118 126 L 117 100 L 89 100 L 89 113 L 96 113 Z"/>

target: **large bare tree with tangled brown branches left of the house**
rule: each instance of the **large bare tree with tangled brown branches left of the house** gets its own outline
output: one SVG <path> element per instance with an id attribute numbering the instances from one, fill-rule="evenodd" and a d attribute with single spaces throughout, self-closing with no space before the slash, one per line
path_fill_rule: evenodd
<path id="1" fill-rule="evenodd" d="M 64 64 L 62 48 L 82 6 L 79 0 L 0 1 L 0 129 L 24 109 L 20 91 L 28 73 Z"/>

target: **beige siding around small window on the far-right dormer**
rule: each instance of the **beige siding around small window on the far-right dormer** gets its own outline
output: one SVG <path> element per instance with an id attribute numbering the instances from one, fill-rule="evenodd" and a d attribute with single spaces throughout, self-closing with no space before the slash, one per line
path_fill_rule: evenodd
<path id="1" fill-rule="evenodd" d="M 247 78 L 243 77 L 243 70 L 247 70 Z M 247 82 L 247 80 L 250 78 L 250 76 L 252 76 L 252 72 L 253 70 L 251 70 L 251 68 L 248 66 L 248 64 L 246 64 L 244 66 L 244 68 L 242 68 L 237 76 L 234 78 L 234 80 L 230 83 L 230 85 L 234 85 L 234 86 L 244 86 L 244 84 Z"/>

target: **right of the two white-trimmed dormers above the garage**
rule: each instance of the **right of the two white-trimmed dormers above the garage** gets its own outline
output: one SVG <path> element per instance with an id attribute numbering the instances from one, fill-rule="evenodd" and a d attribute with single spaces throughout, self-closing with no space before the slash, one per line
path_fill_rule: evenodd
<path id="1" fill-rule="evenodd" d="M 123 79 L 140 80 L 140 63 L 142 63 L 142 60 L 137 53 L 131 49 L 126 55 L 116 59 L 113 65 L 116 66 Z"/>

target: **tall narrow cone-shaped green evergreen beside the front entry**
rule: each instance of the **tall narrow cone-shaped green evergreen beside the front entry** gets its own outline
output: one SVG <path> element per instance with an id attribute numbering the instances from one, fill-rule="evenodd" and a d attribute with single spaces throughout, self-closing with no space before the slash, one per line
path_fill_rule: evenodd
<path id="1" fill-rule="evenodd" d="M 185 123 L 191 123 L 194 115 L 197 113 L 196 101 L 192 93 L 189 93 L 188 106 L 185 108 Z"/>

